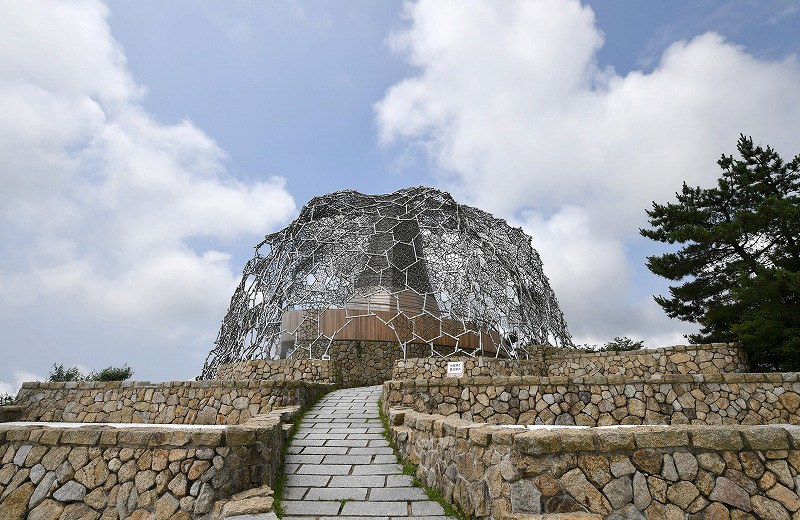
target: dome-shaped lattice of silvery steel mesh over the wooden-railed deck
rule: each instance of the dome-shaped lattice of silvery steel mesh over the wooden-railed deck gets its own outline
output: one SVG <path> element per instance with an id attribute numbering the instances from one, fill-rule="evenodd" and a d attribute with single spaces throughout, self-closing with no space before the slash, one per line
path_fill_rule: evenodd
<path id="1" fill-rule="evenodd" d="M 526 345 L 572 345 L 530 237 L 423 186 L 315 197 L 266 236 L 201 377 L 224 363 L 320 358 L 340 339 L 430 356 L 526 357 Z"/>

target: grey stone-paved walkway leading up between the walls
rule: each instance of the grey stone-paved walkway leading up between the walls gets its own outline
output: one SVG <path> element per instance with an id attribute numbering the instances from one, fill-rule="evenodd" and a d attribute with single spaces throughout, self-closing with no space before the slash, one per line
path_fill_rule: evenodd
<path id="1" fill-rule="evenodd" d="M 382 435 L 380 394 L 338 390 L 309 410 L 286 457 L 284 519 L 449 519 L 403 475 Z"/>

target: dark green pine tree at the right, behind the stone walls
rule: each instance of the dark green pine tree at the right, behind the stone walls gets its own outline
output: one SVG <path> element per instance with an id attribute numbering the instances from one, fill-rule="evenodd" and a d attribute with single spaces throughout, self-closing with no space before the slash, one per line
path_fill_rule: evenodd
<path id="1" fill-rule="evenodd" d="M 741 159 L 722 155 L 713 188 L 653 203 L 648 238 L 683 247 L 647 267 L 679 282 L 655 300 L 698 323 L 694 342 L 739 341 L 754 367 L 800 369 L 800 155 L 789 162 L 740 136 Z"/>

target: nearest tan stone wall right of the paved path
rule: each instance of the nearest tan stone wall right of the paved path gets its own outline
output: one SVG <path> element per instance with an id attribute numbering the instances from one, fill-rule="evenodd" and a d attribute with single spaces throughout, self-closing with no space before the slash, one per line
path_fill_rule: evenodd
<path id="1" fill-rule="evenodd" d="M 389 422 L 417 477 L 478 518 L 789 519 L 800 511 L 796 427 L 531 431 L 399 409 Z"/>

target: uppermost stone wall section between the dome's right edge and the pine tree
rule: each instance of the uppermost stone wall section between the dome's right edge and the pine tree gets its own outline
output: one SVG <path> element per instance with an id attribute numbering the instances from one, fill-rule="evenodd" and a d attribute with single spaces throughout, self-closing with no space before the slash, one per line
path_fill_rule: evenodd
<path id="1" fill-rule="evenodd" d="M 547 376 L 627 376 L 655 374 L 721 374 L 747 372 L 749 364 L 740 347 L 728 343 L 677 345 L 623 352 L 587 352 L 546 348 Z"/>

